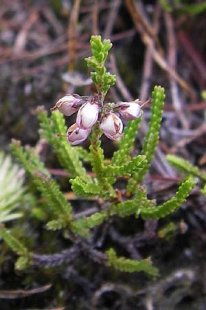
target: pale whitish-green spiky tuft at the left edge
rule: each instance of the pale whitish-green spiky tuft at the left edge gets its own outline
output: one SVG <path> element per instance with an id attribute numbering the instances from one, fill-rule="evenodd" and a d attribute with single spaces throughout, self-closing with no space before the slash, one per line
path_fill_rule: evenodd
<path id="1" fill-rule="evenodd" d="M 0 152 L 0 223 L 16 220 L 22 216 L 14 210 L 23 202 L 23 170 L 12 163 L 12 158 Z"/>

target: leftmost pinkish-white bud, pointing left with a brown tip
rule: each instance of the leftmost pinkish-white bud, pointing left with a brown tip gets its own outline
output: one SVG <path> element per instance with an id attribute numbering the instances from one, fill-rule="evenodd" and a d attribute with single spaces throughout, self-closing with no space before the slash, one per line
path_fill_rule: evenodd
<path id="1" fill-rule="evenodd" d="M 51 111 L 58 109 L 60 112 L 62 112 L 62 114 L 71 116 L 73 113 L 78 111 L 79 107 L 76 105 L 80 101 L 81 99 L 76 99 L 71 94 L 67 94 L 57 101 L 56 105 L 52 107 Z"/>

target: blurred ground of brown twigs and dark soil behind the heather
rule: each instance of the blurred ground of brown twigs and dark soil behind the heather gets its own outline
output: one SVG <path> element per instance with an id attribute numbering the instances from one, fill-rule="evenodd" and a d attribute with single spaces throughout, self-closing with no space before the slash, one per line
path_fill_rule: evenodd
<path id="1" fill-rule="evenodd" d="M 205 12 L 205 1 L 198 0 L 1 0 L 1 225 L 39 254 L 70 245 L 67 236 L 44 229 L 49 217 L 44 201 L 28 194 L 32 185 L 10 157 L 10 141 L 32 145 L 72 199 L 67 174 L 38 136 L 35 110 L 38 105 L 49 110 L 66 93 L 93 93 L 84 61 L 91 34 L 113 42 L 107 67 L 117 74 L 117 83 L 106 101 L 146 101 L 154 85 L 165 87 L 161 142 L 146 180 L 149 196 L 170 197 L 180 180 L 165 154 L 205 168 Z M 150 105 L 142 133 L 149 116 Z M 68 125 L 73 121 L 72 116 Z M 111 156 L 115 144 L 104 139 L 103 145 Z M 137 153 L 139 145 L 141 133 Z M 88 204 L 73 203 L 79 211 Z M 75 267 L 15 271 L 14 254 L 0 240 L 1 309 L 205 309 L 205 205 L 197 187 L 172 219 L 143 223 L 129 218 L 124 225 L 116 220 L 109 232 L 107 227 L 95 232 L 100 245 L 119 242 L 122 254 L 152 255 L 161 272 L 156 282 L 114 273 L 86 257 L 78 258 Z"/>

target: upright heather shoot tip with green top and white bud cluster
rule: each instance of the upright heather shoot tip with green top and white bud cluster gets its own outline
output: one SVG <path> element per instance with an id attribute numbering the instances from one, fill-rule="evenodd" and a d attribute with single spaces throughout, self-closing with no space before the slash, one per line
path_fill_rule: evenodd
<path id="1" fill-rule="evenodd" d="M 91 130 L 97 133 L 102 131 L 111 140 L 122 137 L 123 123 L 141 117 L 139 100 L 117 103 L 105 103 L 104 97 L 111 85 L 115 84 L 115 74 L 106 72 L 104 63 L 108 56 L 108 50 L 112 44 L 110 40 L 103 40 L 100 36 L 91 37 L 92 56 L 85 59 L 87 65 L 93 68 L 91 76 L 96 87 L 93 96 L 80 96 L 78 94 L 67 94 L 59 99 L 51 108 L 58 109 L 65 116 L 71 116 L 77 112 L 76 123 L 67 131 L 67 141 L 71 145 L 78 145 L 87 139 Z M 95 125 L 95 126 L 94 126 Z M 101 134 L 96 134 L 100 138 Z"/>

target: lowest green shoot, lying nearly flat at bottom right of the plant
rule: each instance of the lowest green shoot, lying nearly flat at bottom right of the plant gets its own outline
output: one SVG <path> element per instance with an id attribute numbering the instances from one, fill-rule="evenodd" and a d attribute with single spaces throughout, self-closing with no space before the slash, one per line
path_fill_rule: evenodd
<path id="1" fill-rule="evenodd" d="M 108 266 L 117 270 L 125 272 L 144 271 L 149 276 L 152 276 L 152 278 L 158 276 L 158 269 L 152 266 L 150 258 L 145 260 L 130 260 L 124 257 L 118 258 L 114 249 L 108 249 L 106 255 L 108 256 Z"/>

